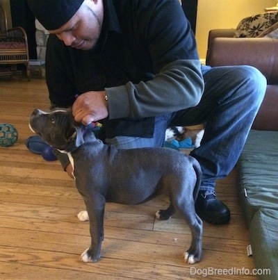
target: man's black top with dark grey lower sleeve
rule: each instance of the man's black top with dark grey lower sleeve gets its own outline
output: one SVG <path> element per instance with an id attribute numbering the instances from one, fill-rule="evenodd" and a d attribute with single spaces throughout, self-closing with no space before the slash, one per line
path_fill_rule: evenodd
<path id="1" fill-rule="evenodd" d="M 56 106 L 105 89 L 108 138 L 151 138 L 155 116 L 196 106 L 204 89 L 195 38 L 177 0 L 104 0 L 95 49 L 73 49 L 49 36 L 46 78 Z"/>

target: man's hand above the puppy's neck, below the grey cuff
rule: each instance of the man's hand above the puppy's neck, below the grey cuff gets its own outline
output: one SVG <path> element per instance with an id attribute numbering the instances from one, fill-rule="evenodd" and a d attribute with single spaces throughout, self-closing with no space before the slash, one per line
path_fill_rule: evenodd
<path id="1" fill-rule="evenodd" d="M 108 117 L 106 91 L 90 91 L 79 95 L 72 106 L 72 114 L 76 122 L 84 125 Z"/>

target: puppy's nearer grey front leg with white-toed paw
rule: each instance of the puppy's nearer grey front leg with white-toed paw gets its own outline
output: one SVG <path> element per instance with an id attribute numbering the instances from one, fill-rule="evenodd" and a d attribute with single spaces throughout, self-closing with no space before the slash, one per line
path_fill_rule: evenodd
<path id="1" fill-rule="evenodd" d="M 96 263 L 101 255 L 101 242 L 104 240 L 104 207 L 105 198 L 94 194 L 93 197 L 84 198 L 90 221 L 91 245 L 81 254 L 85 263 Z"/>

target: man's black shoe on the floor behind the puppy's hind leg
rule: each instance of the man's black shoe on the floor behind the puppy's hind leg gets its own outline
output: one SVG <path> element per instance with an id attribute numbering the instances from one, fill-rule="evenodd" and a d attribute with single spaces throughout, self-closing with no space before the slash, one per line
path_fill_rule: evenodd
<path id="1" fill-rule="evenodd" d="M 227 224 L 230 220 L 229 208 L 216 198 L 215 192 L 200 191 L 195 202 L 197 215 L 212 224 Z"/>

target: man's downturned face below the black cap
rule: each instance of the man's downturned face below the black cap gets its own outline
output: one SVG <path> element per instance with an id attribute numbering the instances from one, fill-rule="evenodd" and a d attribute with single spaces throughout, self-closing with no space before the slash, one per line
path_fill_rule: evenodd
<path id="1" fill-rule="evenodd" d="M 49 33 L 56 34 L 68 47 L 88 51 L 97 44 L 103 18 L 102 0 L 85 0 L 67 23 Z"/>

